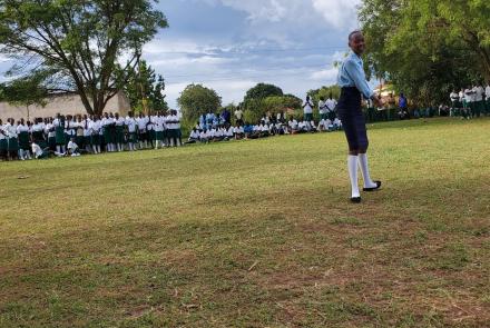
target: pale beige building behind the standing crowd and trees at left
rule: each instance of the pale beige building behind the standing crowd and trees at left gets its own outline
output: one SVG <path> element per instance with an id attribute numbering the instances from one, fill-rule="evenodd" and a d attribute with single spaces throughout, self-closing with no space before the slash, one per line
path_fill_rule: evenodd
<path id="1" fill-rule="evenodd" d="M 126 116 L 130 111 L 128 98 L 119 92 L 109 100 L 104 111 L 119 112 Z M 80 97 L 77 93 L 60 93 L 51 96 L 47 99 L 46 107 L 29 106 L 29 111 L 26 106 L 13 106 L 8 102 L 0 102 L 0 118 L 6 121 L 8 118 L 16 120 L 20 118 L 33 119 L 36 117 L 55 117 L 57 113 L 61 115 L 85 115 L 87 113 Z"/>

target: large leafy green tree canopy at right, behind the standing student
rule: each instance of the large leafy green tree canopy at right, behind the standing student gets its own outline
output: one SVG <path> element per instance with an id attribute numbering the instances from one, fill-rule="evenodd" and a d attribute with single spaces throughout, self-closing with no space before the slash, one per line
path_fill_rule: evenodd
<path id="1" fill-rule="evenodd" d="M 490 3 L 469 0 L 365 0 L 360 20 L 367 72 L 422 106 L 490 80 Z"/>

